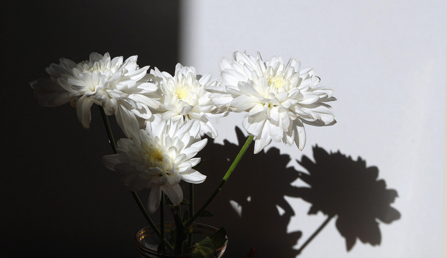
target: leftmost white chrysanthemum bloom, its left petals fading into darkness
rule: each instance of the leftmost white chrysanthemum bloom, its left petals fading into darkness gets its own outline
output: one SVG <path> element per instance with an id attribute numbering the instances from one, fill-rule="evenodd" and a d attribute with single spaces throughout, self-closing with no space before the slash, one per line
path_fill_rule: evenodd
<path id="1" fill-rule="evenodd" d="M 160 106 L 154 93 L 157 87 L 148 82 L 138 82 L 149 66 L 137 65 L 137 56 L 123 62 L 123 57 L 110 58 L 91 53 L 90 59 L 78 64 L 61 58 L 59 64 L 46 68 L 50 79 L 31 82 L 34 95 L 41 106 L 54 107 L 67 102 L 76 107 L 77 116 L 84 128 L 89 128 L 93 104 L 104 107 L 107 115 L 116 115 L 117 122 L 126 136 L 140 129 L 135 116 L 151 117 L 152 109 Z"/>

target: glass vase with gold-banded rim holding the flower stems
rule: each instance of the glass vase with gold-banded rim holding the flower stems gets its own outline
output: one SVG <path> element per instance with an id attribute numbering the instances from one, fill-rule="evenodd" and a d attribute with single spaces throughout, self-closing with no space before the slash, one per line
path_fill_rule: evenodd
<path id="1" fill-rule="evenodd" d="M 196 233 L 193 234 L 193 245 L 194 243 L 200 242 L 206 237 L 212 236 L 214 233 L 218 231 L 218 229 L 200 223 L 194 223 L 196 226 Z M 160 224 L 156 224 L 157 228 L 160 230 Z M 171 231 L 176 229 L 176 225 L 173 222 L 165 223 L 165 237 L 169 240 L 171 236 Z M 168 253 L 157 253 L 158 245 L 160 244 L 160 239 L 155 234 L 150 226 L 145 227 L 138 231 L 135 236 L 135 244 L 137 245 L 138 253 L 141 258 L 189 258 L 190 255 L 175 255 Z M 187 244 L 187 240 L 185 241 Z M 228 241 L 225 242 L 224 246 L 218 248 L 217 258 L 221 258 L 224 255 L 226 245 Z"/>

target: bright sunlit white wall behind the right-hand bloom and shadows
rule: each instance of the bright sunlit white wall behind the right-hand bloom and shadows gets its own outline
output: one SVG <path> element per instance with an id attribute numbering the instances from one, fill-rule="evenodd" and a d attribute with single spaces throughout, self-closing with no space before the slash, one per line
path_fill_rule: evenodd
<path id="1" fill-rule="evenodd" d="M 218 78 L 223 56 L 259 51 L 298 59 L 334 89 L 335 126 L 307 126 L 303 151 L 272 146 L 294 159 L 312 157 L 315 144 L 361 156 L 399 193 L 392 206 L 402 217 L 380 223 L 380 246 L 357 241 L 346 252 L 332 220 L 299 257 L 441 257 L 446 1 L 188 0 L 181 10 L 181 62 L 198 73 Z M 242 117 L 213 120 L 218 142 L 236 142 Z M 299 247 L 325 216 L 287 200 Z"/>

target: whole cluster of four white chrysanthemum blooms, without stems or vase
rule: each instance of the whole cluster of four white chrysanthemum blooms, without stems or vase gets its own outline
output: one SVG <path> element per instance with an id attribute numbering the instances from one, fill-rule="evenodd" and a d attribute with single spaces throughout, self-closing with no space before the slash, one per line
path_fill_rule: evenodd
<path id="1" fill-rule="evenodd" d="M 221 79 L 200 76 L 194 67 L 177 64 L 174 76 L 149 66 L 139 68 L 137 56 L 123 61 L 92 53 L 74 63 L 60 59 L 46 69 L 49 79 L 31 83 L 42 106 L 70 102 L 79 121 L 89 127 L 93 104 L 115 115 L 128 138 L 118 141 L 118 154 L 104 156 L 111 170 L 124 174 L 122 182 L 131 191 L 151 188 L 148 209 L 159 206 L 162 191 L 173 203 L 183 200 L 179 182 L 202 183 L 206 176 L 193 169 L 194 156 L 206 145 L 201 132 L 217 137 L 208 120 L 229 112 L 247 112 L 242 126 L 254 136 L 254 152 L 275 142 L 300 150 L 306 141 L 303 124 L 330 126 L 334 115 L 326 102 L 334 101 L 332 89 L 318 86 L 311 68 L 260 54 L 234 52 L 233 60 L 221 61 Z"/>

